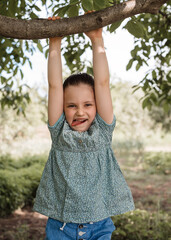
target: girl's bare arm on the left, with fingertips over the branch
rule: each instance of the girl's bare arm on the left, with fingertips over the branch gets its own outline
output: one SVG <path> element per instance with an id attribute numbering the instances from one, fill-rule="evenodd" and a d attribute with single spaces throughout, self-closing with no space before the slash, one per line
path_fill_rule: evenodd
<path id="1" fill-rule="evenodd" d="M 59 17 L 48 18 L 56 20 Z M 52 126 L 63 112 L 63 81 L 61 62 L 61 37 L 49 39 L 48 57 L 48 121 Z"/>

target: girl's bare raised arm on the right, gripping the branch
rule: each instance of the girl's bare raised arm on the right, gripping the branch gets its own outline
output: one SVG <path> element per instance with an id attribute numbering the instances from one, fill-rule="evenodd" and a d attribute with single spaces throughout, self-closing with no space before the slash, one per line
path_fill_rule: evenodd
<path id="1" fill-rule="evenodd" d="M 97 113 L 107 123 L 113 121 L 113 106 L 109 85 L 109 67 L 104 48 L 102 29 L 87 32 L 93 48 L 93 71 Z"/>

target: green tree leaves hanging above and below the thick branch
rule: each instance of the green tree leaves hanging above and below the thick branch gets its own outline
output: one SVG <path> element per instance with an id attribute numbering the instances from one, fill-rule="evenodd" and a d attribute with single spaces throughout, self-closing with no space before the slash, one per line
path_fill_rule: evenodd
<path id="1" fill-rule="evenodd" d="M 39 5 L 38 5 L 39 2 Z M 101 10 L 106 7 L 118 4 L 123 0 L 1 0 L 0 14 L 19 19 L 38 18 L 43 7 L 47 14 L 60 17 L 74 17 L 83 14 L 84 11 Z M 135 86 L 135 90 L 141 88 L 145 95 L 142 98 L 142 107 L 151 110 L 152 105 L 163 107 L 165 113 L 170 114 L 170 10 L 171 0 L 161 8 L 159 14 L 140 14 L 137 17 L 129 18 L 123 26 L 135 37 L 135 47 L 131 51 L 127 70 L 134 63 L 138 71 L 144 64 L 149 65 L 153 58 L 156 66 L 149 69 L 142 81 Z M 115 22 L 107 27 L 110 33 L 115 32 L 122 21 Z M 0 38 L 0 80 L 1 80 L 1 107 L 5 105 L 16 109 L 17 113 L 24 113 L 26 104 L 30 101 L 27 92 L 28 86 L 22 85 L 22 66 L 31 62 L 27 53 L 34 54 L 35 49 L 45 54 L 47 57 L 47 46 L 43 46 L 40 41 L 22 41 L 14 39 Z M 81 47 L 80 47 L 81 46 Z M 90 65 L 87 66 L 82 58 L 84 51 L 90 45 L 83 34 L 78 36 L 68 36 L 63 45 L 63 55 L 71 73 L 88 71 L 92 72 Z M 18 84 L 16 84 L 18 80 Z"/>

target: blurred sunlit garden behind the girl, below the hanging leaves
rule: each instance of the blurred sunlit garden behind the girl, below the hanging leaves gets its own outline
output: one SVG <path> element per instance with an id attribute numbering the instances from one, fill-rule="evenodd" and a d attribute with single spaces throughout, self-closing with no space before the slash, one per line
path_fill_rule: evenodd
<path id="1" fill-rule="evenodd" d="M 32 212 L 37 186 L 51 145 L 47 129 L 47 91 L 42 83 L 30 90 L 26 117 L 11 109 L 0 113 L 0 239 L 42 239 L 47 218 Z M 113 78 L 117 119 L 113 149 L 131 188 L 136 210 L 114 216 L 112 239 L 167 240 L 170 225 L 171 133 L 169 118 L 158 123 L 163 109 L 143 110 L 142 92 Z"/>

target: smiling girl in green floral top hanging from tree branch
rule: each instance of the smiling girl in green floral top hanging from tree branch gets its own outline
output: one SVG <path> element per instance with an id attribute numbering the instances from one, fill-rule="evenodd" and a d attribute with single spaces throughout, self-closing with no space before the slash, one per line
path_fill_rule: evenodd
<path id="1" fill-rule="evenodd" d="M 34 210 L 49 217 L 47 240 L 109 240 L 111 216 L 134 209 L 114 157 L 115 127 L 102 29 L 92 42 L 94 80 L 88 74 L 62 81 L 61 38 L 50 39 L 48 127 L 52 147 Z"/>

